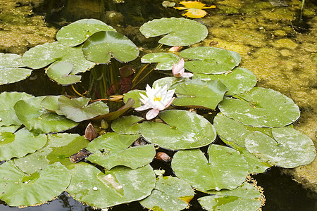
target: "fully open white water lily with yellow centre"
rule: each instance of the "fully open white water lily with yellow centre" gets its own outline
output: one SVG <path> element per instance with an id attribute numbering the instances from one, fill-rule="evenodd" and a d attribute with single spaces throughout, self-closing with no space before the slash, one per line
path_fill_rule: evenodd
<path id="1" fill-rule="evenodd" d="M 156 84 L 155 88 L 151 88 L 149 84 L 147 84 L 146 90 L 147 96 L 141 93 L 139 94 L 142 97 L 139 100 L 144 105 L 135 108 L 135 110 L 147 110 L 152 108 L 147 115 L 145 115 L 147 120 L 151 120 L 159 114 L 160 110 L 168 108 L 174 101 L 175 97 L 173 97 L 173 95 L 175 89 L 167 91 L 167 85 L 160 87 L 159 84 Z"/>

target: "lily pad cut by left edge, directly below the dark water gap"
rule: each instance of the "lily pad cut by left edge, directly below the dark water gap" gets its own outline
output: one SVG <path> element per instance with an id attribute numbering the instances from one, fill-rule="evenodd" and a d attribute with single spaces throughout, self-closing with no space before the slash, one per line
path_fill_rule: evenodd
<path id="1" fill-rule="evenodd" d="M 32 98 L 30 94 L 25 92 L 2 92 L 0 94 L 0 126 L 8 125 L 21 125 L 22 123 L 15 115 L 15 110 L 13 106 L 16 102 L 20 100 L 26 100 L 27 98 Z"/>

